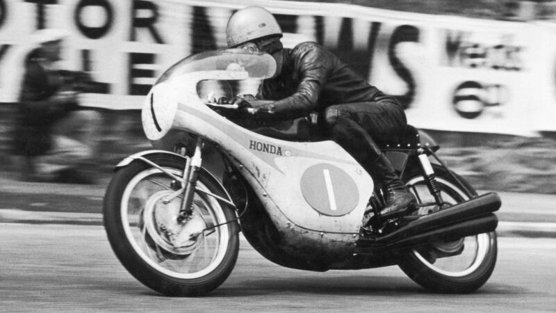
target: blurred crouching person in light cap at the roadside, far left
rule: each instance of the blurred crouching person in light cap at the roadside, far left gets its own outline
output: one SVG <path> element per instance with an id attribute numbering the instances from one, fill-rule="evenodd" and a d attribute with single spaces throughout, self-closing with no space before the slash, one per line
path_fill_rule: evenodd
<path id="1" fill-rule="evenodd" d="M 16 154 L 24 157 L 25 181 L 93 182 L 85 173 L 91 166 L 99 116 L 76 111 L 88 75 L 58 67 L 67 35 L 58 29 L 36 31 L 31 40 L 35 47 L 24 56 L 13 139 Z"/>

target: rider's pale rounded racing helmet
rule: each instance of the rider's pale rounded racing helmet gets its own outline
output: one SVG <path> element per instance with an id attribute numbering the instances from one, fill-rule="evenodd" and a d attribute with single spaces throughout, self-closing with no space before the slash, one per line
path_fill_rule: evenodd
<path id="1" fill-rule="evenodd" d="M 231 15 L 226 26 L 229 48 L 269 35 L 282 36 L 280 25 L 272 13 L 260 6 L 248 6 Z"/>

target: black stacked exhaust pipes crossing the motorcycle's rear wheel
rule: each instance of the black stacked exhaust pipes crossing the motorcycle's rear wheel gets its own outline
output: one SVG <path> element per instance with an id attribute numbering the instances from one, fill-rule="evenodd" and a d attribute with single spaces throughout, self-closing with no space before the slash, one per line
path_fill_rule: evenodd
<path id="1" fill-rule="evenodd" d="M 501 204 L 500 197 L 496 193 L 485 193 L 448 209 L 418 218 L 390 234 L 377 236 L 374 239 L 359 239 L 357 253 L 398 247 L 398 243 L 407 246 L 429 240 L 457 239 L 462 236 L 492 232 L 498 225 L 498 218 L 492 212 L 498 211 Z"/>

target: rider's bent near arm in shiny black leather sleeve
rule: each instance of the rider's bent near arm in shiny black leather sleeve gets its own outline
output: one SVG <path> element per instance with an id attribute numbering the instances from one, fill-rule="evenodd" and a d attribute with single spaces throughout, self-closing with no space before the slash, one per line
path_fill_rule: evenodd
<path id="1" fill-rule="evenodd" d="M 293 95 L 272 103 L 275 118 L 300 118 L 316 109 L 320 92 L 332 72 L 329 53 L 312 42 L 296 47 L 292 54 L 300 83 Z"/>

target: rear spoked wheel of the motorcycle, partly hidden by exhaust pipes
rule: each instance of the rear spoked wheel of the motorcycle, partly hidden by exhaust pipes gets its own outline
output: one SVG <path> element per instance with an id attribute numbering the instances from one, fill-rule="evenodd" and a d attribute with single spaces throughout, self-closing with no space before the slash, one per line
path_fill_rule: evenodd
<path id="1" fill-rule="evenodd" d="M 443 207 L 471 198 L 473 194 L 460 188 L 444 168 L 436 165 L 433 168 L 445 201 Z M 403 180 L 419 203 L 434 202 L 420 171 L 409 172 Z M 470 186 L 468 188 L 475 193 Z M 442 208 L 421 207 L 416 214 L 430 214 L 439 209 Z M 496 232 L 489 232 L 456 241 L 430 242 L 404 254 L 399 265 L 412 280 L 427 289 L 467 293 L 480 288 L 490 278 L 496 255 Z"/>

